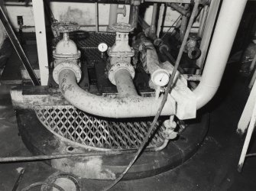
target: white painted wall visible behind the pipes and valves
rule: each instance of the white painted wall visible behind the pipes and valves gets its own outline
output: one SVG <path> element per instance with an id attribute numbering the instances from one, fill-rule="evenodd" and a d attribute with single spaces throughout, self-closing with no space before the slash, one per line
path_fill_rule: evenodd
<path id="1" fill-rule="evenodd" d="M 95 4 L 81 3 L 81 2 L 50 2 L 53 15 L 58 21 L 76 21 L 82 25 L 82 30 L 95 31 L 96 24 Z M 99 31 L 106 31 L 106 26 L 109 23 L 109 6 L 110 4 L 99 4 Z M 119 5 L 122 7 L 123 5 Z M 23 31 L 34 31 L 34 13 L 31 6 L 14 6 L 6 5 L 8 17 L 14 28 L 18 30 L 17 16 L 21 15 L 24 19 Z M 118 15 L 118 21 L 128 22 L 130 6 L 126 5 L 126 16 Z M 149 6 L 144 14 L 144 19 L 147 24 L 151 24 L 151 15 L 153 6 Z M 174 21 L 180 16 L 177 11 L 173 11 L 170 7 L 167 8 L 167 15 L 165 16 L 164 26 L 171 26 Z M 84 27 L 85 25 L 92 25 L 92 27 Z M 197 24 L 193 25 L 198 26 Z M 169 28 L 164 28 L 167 31 Z M 170 30 L 171 31 L 171 30 Z"/>

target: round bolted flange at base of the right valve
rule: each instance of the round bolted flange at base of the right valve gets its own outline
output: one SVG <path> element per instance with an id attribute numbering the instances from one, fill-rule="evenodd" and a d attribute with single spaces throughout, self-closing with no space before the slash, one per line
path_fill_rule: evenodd
<path id="1" fill-rule="evenodd" d="M 134 67 L 131 66 L 131 63 L 127 63 L 127 62 L 122 61 L 122 62 L 113 64 L 109 68 L 109 81 L 112 84 L 116 85 L 116 83 L 115 83 L 115 73 L 118 70 L 122 70 L 122 69 L 128 70 L 128 72 L 131 74 L 131 78 L 134 79 L 134 76 L 135 76 Z"/>

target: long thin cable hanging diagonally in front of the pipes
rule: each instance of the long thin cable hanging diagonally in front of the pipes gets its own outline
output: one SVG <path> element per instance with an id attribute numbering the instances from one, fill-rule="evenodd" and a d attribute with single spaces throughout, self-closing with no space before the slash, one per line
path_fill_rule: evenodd
<path id="1" fill-rule="evenodd" d="M 169 83 L 167 85 L 167 89 L 166 89 L 166 91 L 164 93 L 164 98 L 162 99 L 162 102 L 160 103 L 160 107 L 157 110 L 157 114 L 154 117 L 154 120 L 153 120 L 153 122 L 151 124 L 151 127 L 147 131 L 146 137 L 144 138 L 144 141 L 142 142 L 141 147 L 138 148 L 138 151 L 134 155 L 134 158 L 131 160 L 131 162 L 128 164 L 128 166 L 125 168 L 125 170 L 120 174 L 120 176 L 118 176 L 118 178 L 111 185 L 105 187 L 103 189 L 103 191 L 111 189 L 113 186 L 115 186 L 115 184 L 117 184 L 120 180 L 122 180 L 122 177 L 125 176 L 125 173 L 128 172 L 128 170 L 131 168 L 131 166 L 134 164 L 134 162 L 138 159 L 138 157 L 141 154 L 141 151 L 144 150 L 144 147 L 146 146 L 147 141 L 151 138 L 151 133 L 154 130 L 154 126 L 157 123 L 157 119 L 159 118 L 160 113 L 162 112 L 162 109 L 164 108 L 164 104 L 167 101 L 167 96 L 168 96 L 168 94 L 172 90 L 173 79 L 175 78 L 175 74 L 177 73 L 178 67 L 180 65 L 180 60 L 181 60 L 181 57 L 183 55 L 183 50 L 184 50 L 185 45 L 186 45 L 186 40 L 189 37 L 190 29 L 192 27 L 192 24 L 193 24 L 193 21 L 194 21 L 194 18 L 195 18 L 198 6 L 199 6 L 199 0 L 195 0 L 195 5 L 193 7 L 193 11 L 192 11 L 192 14 L 191 14 L 191 17 L 190 17 L 190 21 L 189 21 L 188 27 L 186 28 L 186 33 L 184 35 L 183 42 L 181 44 L 179 54 L 178 54 L 175 66 L 173 68 L 173 73 L 170 76 L 170 80 L 169 80 Z"/>

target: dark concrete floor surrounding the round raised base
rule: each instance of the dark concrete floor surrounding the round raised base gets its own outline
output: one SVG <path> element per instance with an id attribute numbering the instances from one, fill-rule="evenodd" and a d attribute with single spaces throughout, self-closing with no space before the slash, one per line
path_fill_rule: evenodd
<path id="1" fill-rule="evenodd" d="M 210 113 L 209 132 L 199 151 L 190 160 L 157 176 L 122 181 L 112 190 L 255 190 L 256 158 L 245 160 L 242 173 L 236 170 L 244 138 L 236 134 L 235 130 L 248 95 L 248 82 L 235 73 L 233 69 L 228 69 L 215 99 L 204 108 L 205 112 Z M 256 152 L 254 139 L 255 136 L 251 141 L 250 152 Z M 0 140 L 0 157 L 30 155 L 18 136 L 15 112 L 6 86 L 0 86 Z M 18 178 L 19 167 L 23 167 L 25 173 L 18 190 L 31 183 L 44 181 L 56 172 L 43 162 L 1 163 L 1 191 L 12 189 Z M 81 181 L 84 190 L 99 190 L 110 183 Z"/>

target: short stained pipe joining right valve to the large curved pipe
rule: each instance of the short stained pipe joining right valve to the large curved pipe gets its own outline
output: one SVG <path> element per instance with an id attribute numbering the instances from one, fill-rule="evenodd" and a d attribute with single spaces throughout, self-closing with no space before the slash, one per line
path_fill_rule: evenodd
<path id="1" fill-rule="evenodd" d="M 138 95 L 131 74 L 126 69 L 118 70 L 115 73 L 115 84 L 118 89 L 119 97 L 127 97 L 130 95 Z"/>

